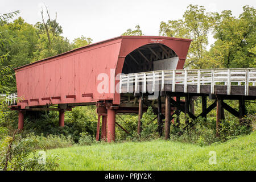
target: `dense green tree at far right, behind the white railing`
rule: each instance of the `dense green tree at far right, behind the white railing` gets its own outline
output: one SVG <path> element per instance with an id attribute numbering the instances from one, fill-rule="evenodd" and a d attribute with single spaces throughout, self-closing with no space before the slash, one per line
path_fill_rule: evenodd
<path id="1" fill-rule="evenodd" d="M 209 51 L 224 68 L 256 67 L 256 10 L 244 6 L 243 13 L 232 16 L 231 11 L 216 14 L 214 38 L 216 42 Z"/>

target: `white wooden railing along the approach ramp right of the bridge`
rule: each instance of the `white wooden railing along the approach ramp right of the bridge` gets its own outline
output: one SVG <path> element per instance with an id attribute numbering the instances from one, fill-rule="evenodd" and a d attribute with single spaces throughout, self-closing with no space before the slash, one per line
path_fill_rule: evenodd
<path id="1" fill-rule="evenodd" d="M 152 83 L 155 84 L 152 84 Z M 200 85 L 210 85 L 210 93 L 214 93 L 214 85 L 227 85 L 227 94 L 231 93 L 231 85 L 245 86 L 245 96 L 249 95 L 249 85 L 256 84 L 256 68 L 232 68 L 232 69 L 175 69 L 151 71 L 142 73 L 122 74 L 119 82 L 119 92 L 122 93 L 122 86 L 126 86 L 126 93 L 139 93 L 138 85 L 142 85 L 141 92 L 147 91 L 151 85 L 151 91 L 155 92 L 156 86 L 164 84 L 172 85 L 172 92 L 175 92 L 175 85 L 184 85 L 184 92 L 187 92 L 187 85 L 197 85 L 197 93 L 200 92 Z M 128 85 L 128 86 L 127 86 Z M 135 88 L 135 90 L 133 90 Z"/>

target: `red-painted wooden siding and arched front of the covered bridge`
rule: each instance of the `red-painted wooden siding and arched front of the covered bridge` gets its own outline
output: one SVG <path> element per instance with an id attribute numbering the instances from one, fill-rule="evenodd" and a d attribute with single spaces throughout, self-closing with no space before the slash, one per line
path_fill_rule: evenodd
<path id="1" fill-rule="evenodd" d="M 47 104 L 96 103 L 101 100 L 120 104 L 119 93 L 98 93 L 97 80 L 100 73 L 109 77 L 122 72 L 125 57 L 135 49 L 149 43 L 161 43 L 175 51 L 179 56 L 177 69 L 182 69 L 187 56 L 190 39 L 164 36 L 119 36 L 117 38 L 94 43 L 74 49 L 61 55 L 49 57 L 15 69 L 18 97 L 28 102 L 18 103 L 22 109 L 26 106 Z M 115 82 L 117 84 L 118 81 Z M 110 91 L 110 81 L 109 81 Z M 90 96 L 83 94 L 93 93 Z M 60 99 L 51 98 L 58 96 Z M 76 96 L 75 100 L 70 99 Z M 30 101 L 40 98 L 38 102 Z"/>

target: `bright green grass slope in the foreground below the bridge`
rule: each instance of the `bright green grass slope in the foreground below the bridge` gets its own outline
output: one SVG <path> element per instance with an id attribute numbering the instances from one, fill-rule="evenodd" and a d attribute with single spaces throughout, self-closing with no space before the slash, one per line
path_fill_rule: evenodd
<path id="1" fill-rule="evenodd" d="M 195 144 L 154 140 L 57 148 L 59 170 L 255 170 L 256 132 L 221 144 Z M 217 164 L 210 165 L 209 151 Z"/>

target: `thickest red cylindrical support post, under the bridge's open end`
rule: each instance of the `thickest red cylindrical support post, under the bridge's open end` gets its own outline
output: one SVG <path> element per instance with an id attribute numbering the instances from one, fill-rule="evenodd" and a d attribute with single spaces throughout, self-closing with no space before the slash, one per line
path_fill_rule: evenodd
<path id="1" fill-rule="evenodd" d="M 115 141 L 115 110 L 108 108 L 108 142 Z"/>

